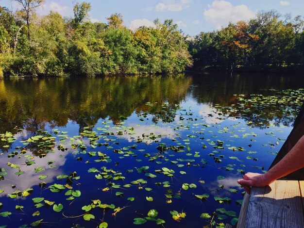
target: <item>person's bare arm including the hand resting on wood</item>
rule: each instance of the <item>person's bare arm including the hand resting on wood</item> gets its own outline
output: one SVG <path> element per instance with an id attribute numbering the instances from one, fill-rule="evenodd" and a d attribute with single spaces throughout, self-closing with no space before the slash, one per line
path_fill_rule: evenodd
<path id="1" fill-rule="evenodd" d="M 242 185 L 245 191 L 250 194 L 250 186 L 263 187 L 272 183 L 274 180 L 282 178 L 298 169 L 304 167 L 304 135 L 267 173 L 246 173 L 243 179 L 238 179 L 237 183 Z"/>

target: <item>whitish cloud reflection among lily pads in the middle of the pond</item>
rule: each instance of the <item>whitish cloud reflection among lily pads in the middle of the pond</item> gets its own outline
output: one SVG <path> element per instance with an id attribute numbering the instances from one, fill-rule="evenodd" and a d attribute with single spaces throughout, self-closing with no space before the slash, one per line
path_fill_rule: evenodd
<path id="1" fill-rule="evenodd" d="M 146 136 L 149 136 L 150 133 L 154 133 L 155 136 L 161 135 L 161 138 L 156 138 L 154 140 L 158 140 L 159 142 L 161 141 L 162 138 L 168 138 L 168 139 L 173 139 L 174 136 L 176 135 L 176 131 L 173 130 L 172 127 L 169 126 L 161 126 L 161 127 L 155 127 L 155 125 L 144 125 L 144 126 L 135 126 L 136 124 L 134 123 L 129 123 L 127 127 L 133 127 L 135 134 L 123 134 L 123 135 L 118 135 L 118 138 L 124 138 L 127 139 L 129 143 L 132 141 L 136 141 L 137 137 L 140 137 L 142 139 L 142 135 L 145 134 Z M 124 129 L 109 129 L 109 130 L 124 130 Z M 154 140 L 152 139 L 147 139 L 145 138 L 143 142 L 147 144 L 151 144 Z"/>

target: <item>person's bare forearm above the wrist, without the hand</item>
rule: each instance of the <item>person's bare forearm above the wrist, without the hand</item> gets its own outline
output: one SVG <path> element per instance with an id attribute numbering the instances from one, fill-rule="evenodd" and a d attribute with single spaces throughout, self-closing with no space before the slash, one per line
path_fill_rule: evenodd
<path id="1" fill-rule="evenodd" d="M 285 157 L 275 164 L 267 173 L 265 178 L 270 182 L 279 179 L 304 167 L 304 136 L 302 136 Z"/>

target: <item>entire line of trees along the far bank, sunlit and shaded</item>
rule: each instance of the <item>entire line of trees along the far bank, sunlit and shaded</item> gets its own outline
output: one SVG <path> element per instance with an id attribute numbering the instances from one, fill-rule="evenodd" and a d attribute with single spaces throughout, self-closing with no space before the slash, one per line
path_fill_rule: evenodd
<path id="1" fill-rule="evenodd" d="M 115 13 L 107 23 L 89 21 L 90 3 L 74 16 L 37 16 L 44 0 L 0 6 L 0 77 L 158 74 L 185 69 L 265 70 L 304 65 L 304 19 L 261 12 L 248 22 L 189 37 L 173 20 L 135 31 Z"/>

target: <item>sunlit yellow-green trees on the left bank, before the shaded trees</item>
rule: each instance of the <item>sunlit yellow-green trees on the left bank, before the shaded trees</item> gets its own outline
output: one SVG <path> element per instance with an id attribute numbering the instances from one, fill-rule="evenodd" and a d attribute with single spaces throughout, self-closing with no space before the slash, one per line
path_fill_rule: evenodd
<path id="1" fill-rule="evenodd" d="M 180 72 L 191 65 L 183 35 L 172 20 L 127 29 L 120 14 L 107 23 L 88 20 L 90 3 L 73 17 L 36 15 L 43 0 L 16 0 L 21 10 L 0 7 L 0 75 L 66 76 Z"/>

